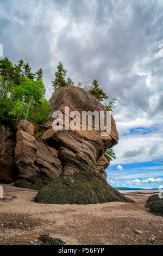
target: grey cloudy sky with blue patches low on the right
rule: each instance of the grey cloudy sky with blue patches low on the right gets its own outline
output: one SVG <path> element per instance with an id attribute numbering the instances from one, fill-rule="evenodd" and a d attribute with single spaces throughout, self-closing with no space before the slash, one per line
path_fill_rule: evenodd
<path id="1" fill-rule="evenodd" d="M 112 186 L 163 185 L 162 0 L 4 0 L 0 25 L 4 57 L 42 68 L 47 98 L 59 61 L 117 96 Z"/>

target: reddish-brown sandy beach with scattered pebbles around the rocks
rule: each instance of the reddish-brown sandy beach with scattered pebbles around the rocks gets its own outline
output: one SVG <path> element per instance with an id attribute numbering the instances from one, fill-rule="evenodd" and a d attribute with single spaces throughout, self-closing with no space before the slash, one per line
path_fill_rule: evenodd
<path id="1" fill-rule="evenodd" d="M 163 218 L 145 207 L 158 191 L 121 191 L 135 203 L 45 205 L 32 201 L 37 191 L 4 184 L 3 189 L 0 245 L 41 245 L 43 234 L 66 245 L 163 245 Z"/>

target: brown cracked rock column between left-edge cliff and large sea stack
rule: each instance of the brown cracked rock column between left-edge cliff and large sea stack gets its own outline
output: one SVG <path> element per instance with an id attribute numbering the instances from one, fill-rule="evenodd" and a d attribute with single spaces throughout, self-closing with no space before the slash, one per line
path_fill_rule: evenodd
<path id="1" fill-rule="evenodd" d="M 35 178 L 44 175 L 50 181 L 59 178 L 61 174 L 57 150 L 37 141 L 34 137 L 34 125 L 26 120 L 21 120 L 18 124 L 15 163 L 19 180 L 27 179 L 35 183 Z M 20 181 L 15 185 L 18 183 L 20 184 Z"/>

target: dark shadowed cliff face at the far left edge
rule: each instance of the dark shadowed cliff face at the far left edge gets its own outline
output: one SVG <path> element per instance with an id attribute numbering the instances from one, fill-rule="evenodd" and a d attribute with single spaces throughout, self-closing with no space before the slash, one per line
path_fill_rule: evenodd
<path id="1" fill-rule="evenodd" d="M 14 179 L 15 133 L 4 125 L 0 128 L 0 183 Z"/>

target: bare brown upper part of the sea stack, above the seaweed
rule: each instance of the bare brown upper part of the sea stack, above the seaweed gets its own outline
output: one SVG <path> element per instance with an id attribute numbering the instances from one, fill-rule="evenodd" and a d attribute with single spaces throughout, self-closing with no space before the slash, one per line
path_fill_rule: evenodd
<path id="1" fill-rule="evenodd" d="M 52 148 L 57 147 L 62 163 L 63 175 L 72 175 L 76 172 L 97 174 L 100 172 L 103 176 L 106 176 L 101 167 L 99 171 L 97 162 L 106 149 L 113 147 L 118 142 L 118 133 L 114 119 L 111 117 L 110 136 L 103 137 L 101 136 L 101 131 L 95 130 L 54 131 L 52 128 L 54 121 L 52 118 L 53 112 L 61 111 L 65 120 L 65 107 L 69 107 L 70 112 L 78 111 L 81 117 L 82 111 L 98 111 L 98 113 L 100 111 L 106 113 L 107 111 L 105 106 L 96 97 L 78 87 L 68 85 L 53 93 L 50 106 L 51 112 L 48 117 L 43 140 L 51 145 Z"/>

